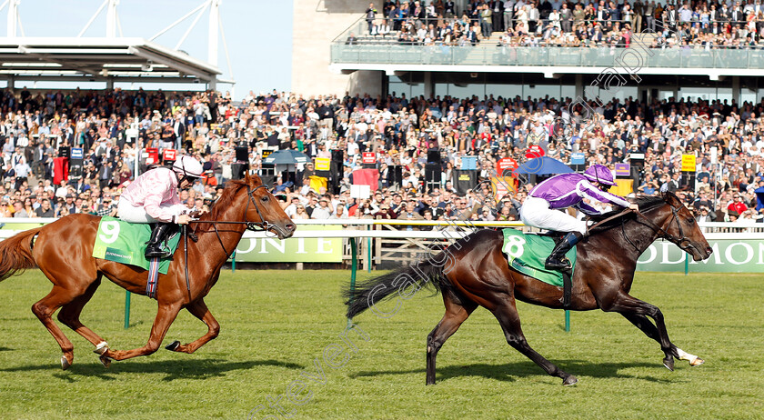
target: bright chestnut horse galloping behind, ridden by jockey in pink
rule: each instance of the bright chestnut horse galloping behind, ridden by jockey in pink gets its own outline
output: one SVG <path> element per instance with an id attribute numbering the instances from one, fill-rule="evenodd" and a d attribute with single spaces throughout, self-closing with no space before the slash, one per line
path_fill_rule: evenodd
<path id="1" fill-rule="evenodd" d="M 68 215 L 0 243 L 0 280 L 36 265 L 53 282 L 53 290 L 32 305 L 32 312 L 61 346 L 64 369 L 74 362 L 74 347 L 51 318 L 58 308 L 61 308 L 58 320 L 93 343 L 95 353 L 101 355 L 101 362 L 108 366 L 111 359 L 124 360 L 156 352 L 167 329 L 185 307 L 207 325 L 207 333 L 193 343 L 176 342 L 167 349 L 194 353 L 218 334 L 220 325 L 207 309 L 204 298 L 216 284 L 221 267 L 245 230 L 259 228 L 281 239 L 295 232 L 295 225 L 258 176 L 246 175 L 244 180 L 228 182 L 211 211 L 199 219 L 198 241 L 187 241 L 187 250 L 183 244 L 178 245 L 167 274 L 159 275 L 156 286 L 159 309 L 148 343 L 133 350 L 117 351 L 80 322 L 80 313 L 101 284 L 101 276 L 105 275 L 132 293 L 146 295 L 148 272 L 91 256 L 100 220 L 95 215 Z M 217 223 L 225 225 L 218 228 Z M 186 261 L 190 262 L 187 266 Z"/>

